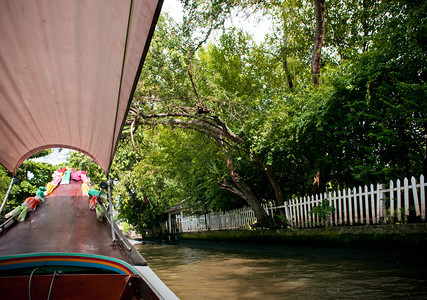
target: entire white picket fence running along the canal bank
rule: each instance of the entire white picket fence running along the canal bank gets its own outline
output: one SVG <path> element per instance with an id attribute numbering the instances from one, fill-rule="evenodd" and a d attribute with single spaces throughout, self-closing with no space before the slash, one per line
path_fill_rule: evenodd
<path id="1" fill-rule="evenodd" d="M 358 188 L 344 189 L 314 196 L 300 197 L 287 201 L 282 206 L 263 205 L 272 216 L 275 210 L 284 210 L 290 227 L 308 228 L 329 226 L 385 224 L 388 222 L 407 222 L 410 215 L 426 221 L 426 182 L 421 175 L 418 183 L 411 180 L 390 181 L 384 184 L 371 184 Z M 310 211 L 327 199 L 334 212 L 328 220 L 321 220 Z M 176 227 L 180 232 L 198 232 L 207 230 L 248 229 L 256 222 L 253 210 L 249 207 L 227 212 L 215 212 L 203 215 L 176 216 Z"/>

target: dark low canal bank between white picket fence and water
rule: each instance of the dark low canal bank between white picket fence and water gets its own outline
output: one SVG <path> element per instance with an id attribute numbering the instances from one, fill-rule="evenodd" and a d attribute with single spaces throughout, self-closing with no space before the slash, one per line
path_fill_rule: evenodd
<path id="1" fill-rule="evenodd" d="M 181 233 L 178 239 L 316 247 L 427 249 L 427 224 L 387 224 L 282 230 Z"/>

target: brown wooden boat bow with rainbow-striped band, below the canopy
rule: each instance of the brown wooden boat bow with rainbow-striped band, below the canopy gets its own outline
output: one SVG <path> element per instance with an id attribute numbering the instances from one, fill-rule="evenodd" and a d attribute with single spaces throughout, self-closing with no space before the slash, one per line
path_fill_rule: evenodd
<path id="1" fill-rule="evenodd" d="M 97 220 L 81 184 L 59 185 L 1 234 L 0 298 L 177 299 L 121 232 L 112 242 L 113 225 Z"/>

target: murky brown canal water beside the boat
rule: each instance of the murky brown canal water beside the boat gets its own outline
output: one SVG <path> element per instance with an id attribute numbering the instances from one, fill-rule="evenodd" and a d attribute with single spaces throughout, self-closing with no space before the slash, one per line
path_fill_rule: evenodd
<path id="1" fill-rule="evenodd" d="M 181 241 L 136 245 L 181 299 L 427 299 L 426 253 Z"/>

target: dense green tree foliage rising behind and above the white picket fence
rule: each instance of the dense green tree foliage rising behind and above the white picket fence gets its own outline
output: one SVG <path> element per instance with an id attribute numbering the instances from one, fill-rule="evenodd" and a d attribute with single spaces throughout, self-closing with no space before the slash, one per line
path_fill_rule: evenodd
<path id="1" fill-rule="evenodd" d="M 228 154 L 259 201 L 275 197 L 267 168 L 285 199 L 311 193 L 318 171 L 321 190 L 426 173 L 425 3 L 332 1 L 316 89 L 311 2 L 185 5 L 183 24 L 167 16 L 158 23 L 130 119 L 202 103 L 244 140 Z M 233 28 L 201 43 L 236 7 L 273 19 L 264 43 Z M 230 182 L 226 153 L 184 127 L 136 126 L 137 151 L 124 132 L 111 174 L 121 215 L 141 232 L 159 228 L 162 211 L 181 201 L 201 211 L 243 204 L 218 187 Z"/>

